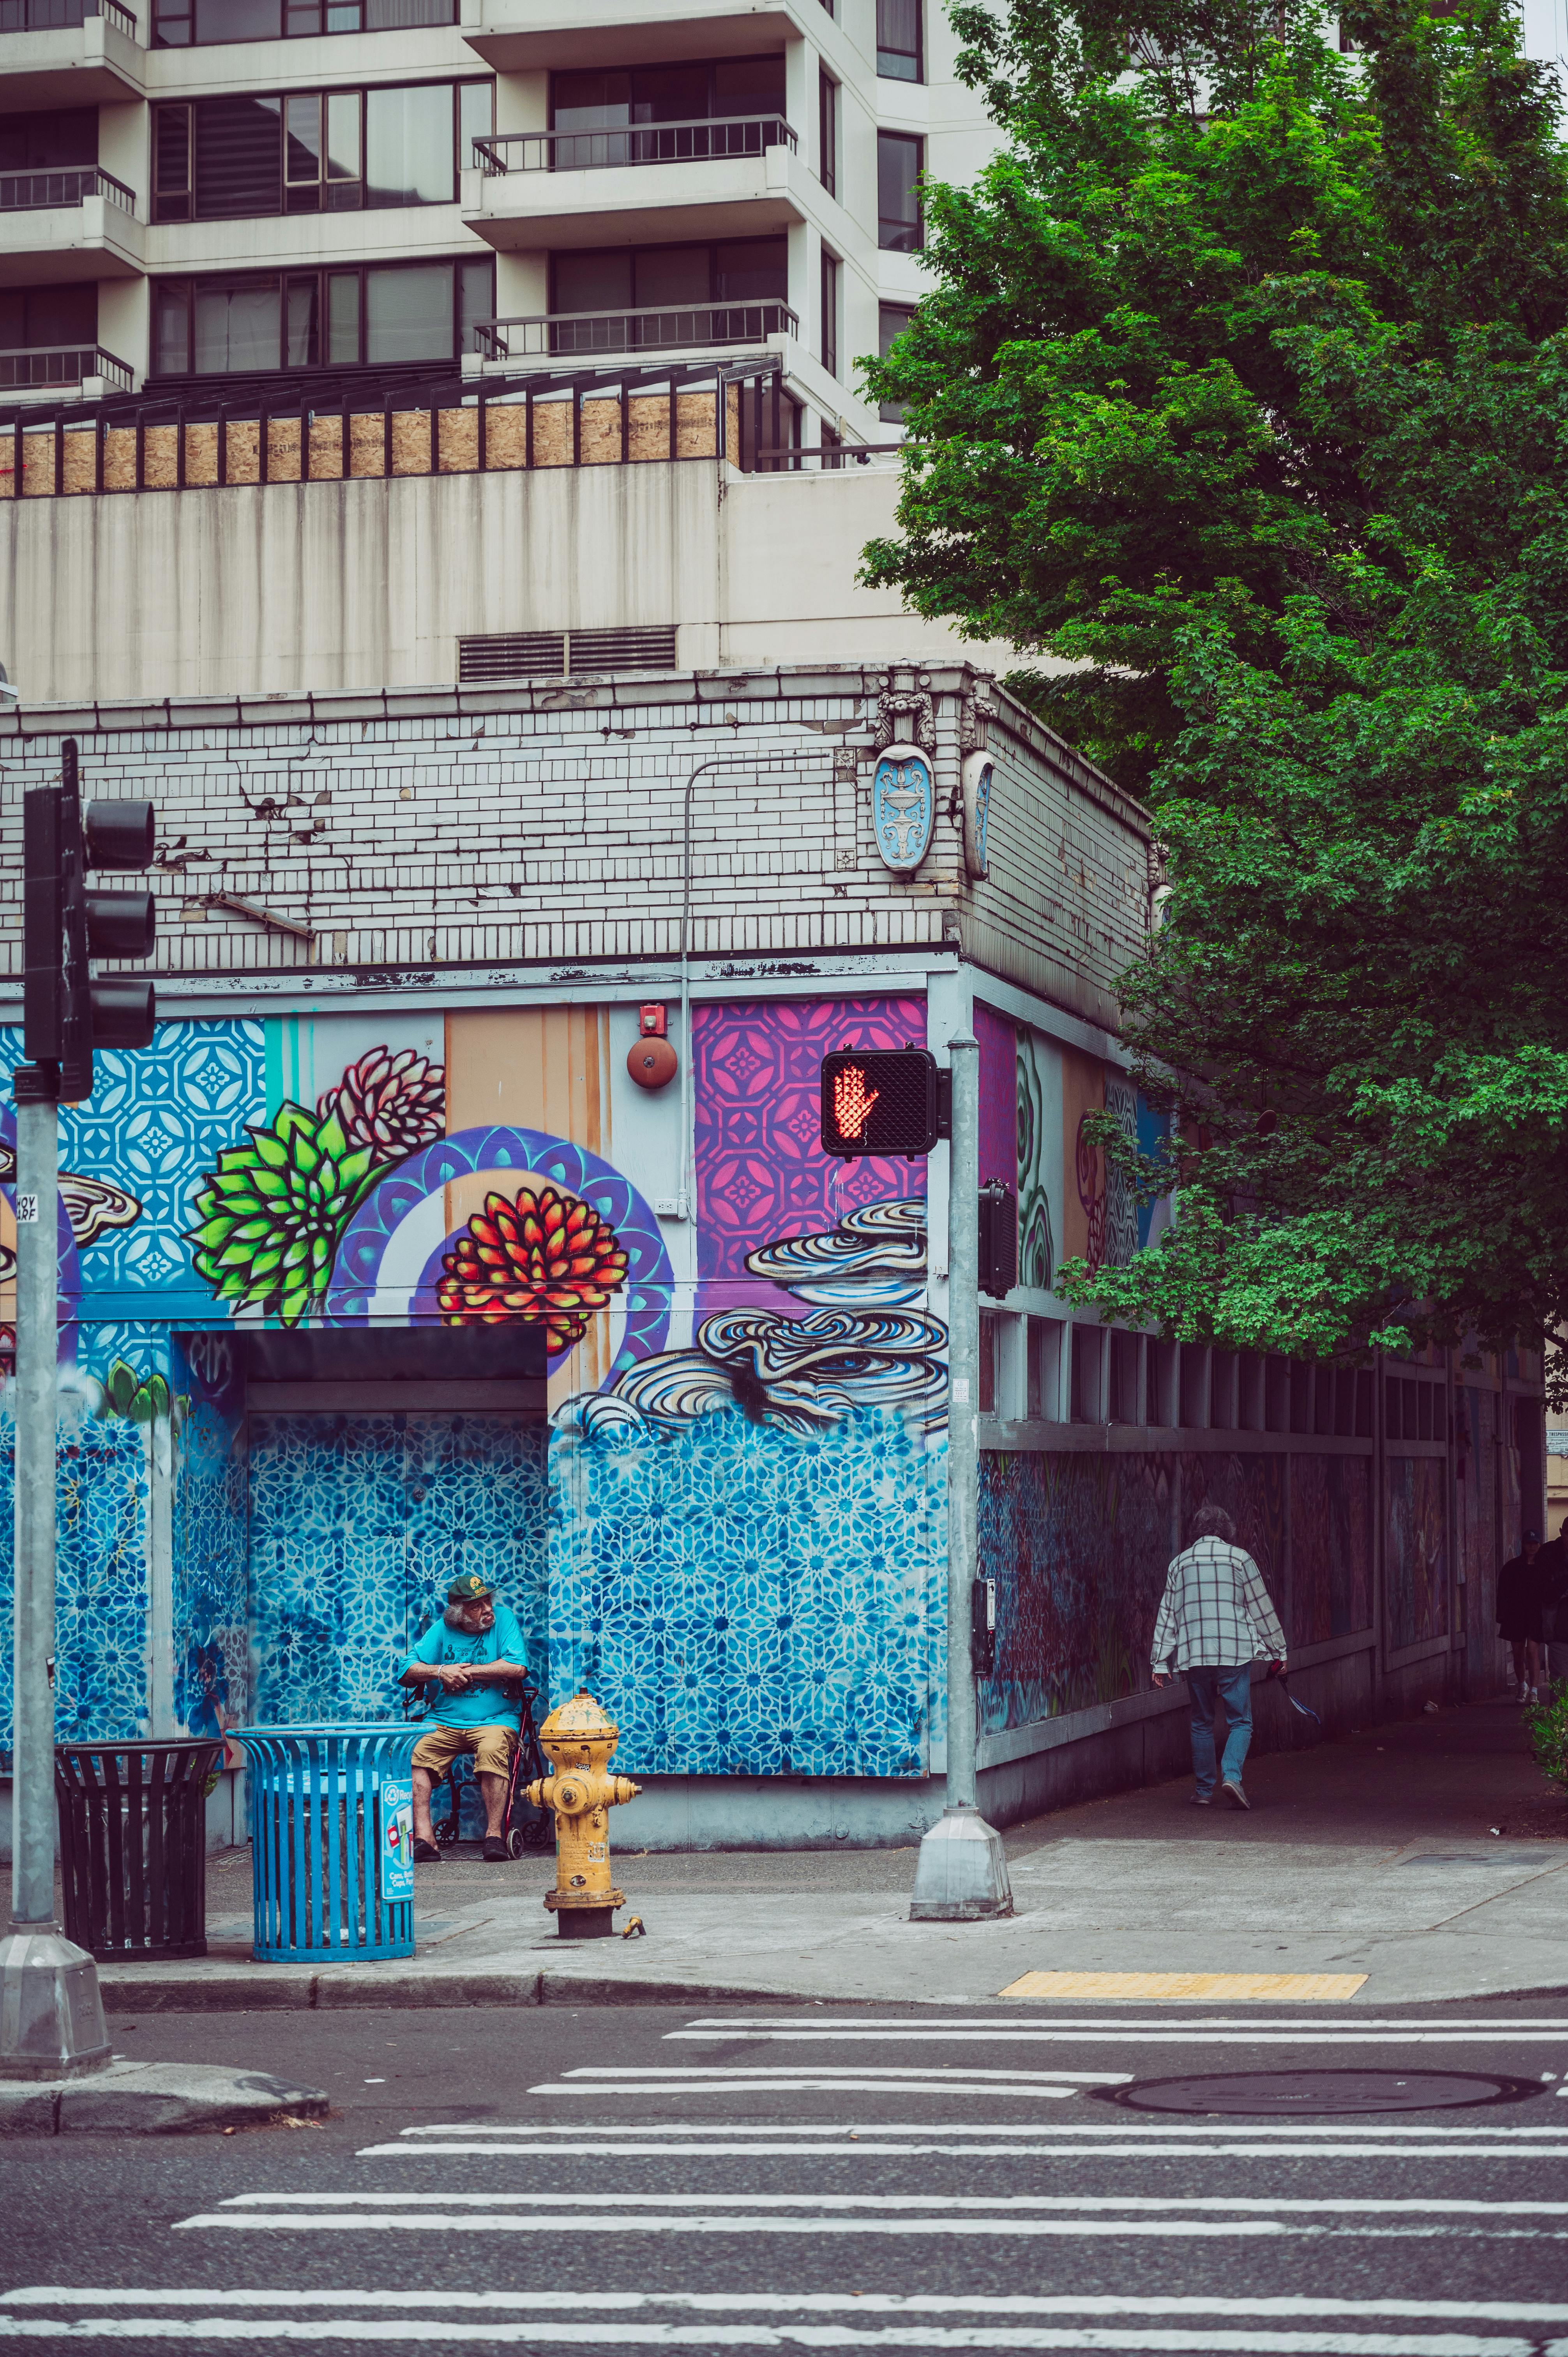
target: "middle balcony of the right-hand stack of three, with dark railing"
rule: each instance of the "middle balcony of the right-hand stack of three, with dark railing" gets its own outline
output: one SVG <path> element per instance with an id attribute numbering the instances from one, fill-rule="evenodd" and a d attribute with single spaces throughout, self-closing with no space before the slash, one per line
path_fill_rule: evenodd
<path id="1" fill-rule="evenodd" d="M 502 250 L 755 238 L 804 219 L 795 151 L 780 115 L 505 132 L 474 141 L 462 219 Z"/>

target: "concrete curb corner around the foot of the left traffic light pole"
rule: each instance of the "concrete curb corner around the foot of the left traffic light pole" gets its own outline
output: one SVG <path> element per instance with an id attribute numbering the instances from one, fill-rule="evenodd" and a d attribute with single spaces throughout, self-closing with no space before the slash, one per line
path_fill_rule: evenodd
<path id="1" fill-rule="evenodd" d="M 219 2062 L 125 2062 L 85 2079 L 0 2081 L 0 2135 L 191 2135 L 325 2119 L 328 2098 Z"/>

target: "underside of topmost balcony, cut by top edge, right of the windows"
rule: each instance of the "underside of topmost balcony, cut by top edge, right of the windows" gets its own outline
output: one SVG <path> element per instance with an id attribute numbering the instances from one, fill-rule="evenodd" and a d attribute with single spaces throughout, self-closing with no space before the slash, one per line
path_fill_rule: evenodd
<path id="1" fill-rule="evenodd" d="M 462 0 L 462 35 L 488 66 L 528 73 L 554 66 L 648 66 L 684 57 L 778 52 L 821 16 L 818 0 L 606 0 L 594 12 L 568 0 Z"/>

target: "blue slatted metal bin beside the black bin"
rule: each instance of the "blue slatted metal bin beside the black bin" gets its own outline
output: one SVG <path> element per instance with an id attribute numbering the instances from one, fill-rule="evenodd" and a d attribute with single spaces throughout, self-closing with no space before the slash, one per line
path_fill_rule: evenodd
<path id="1" fill-rule="evenodd" d="M 257 1963 L 413 1956 L 420 1728 L 243 1728 Z"/>

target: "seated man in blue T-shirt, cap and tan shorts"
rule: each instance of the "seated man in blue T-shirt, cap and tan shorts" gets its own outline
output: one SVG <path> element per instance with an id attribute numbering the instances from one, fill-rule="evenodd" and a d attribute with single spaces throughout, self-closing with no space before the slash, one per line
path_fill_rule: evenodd
<path id="1" fill-rule="evenodd" d="M 441 1857 L 429 1822 L 429 1796 L 460 1751 L 474 1754 L 474 1772 L 486 1805 L 486 1857 L 505 1857 L 502 1820 L 512 1754 L 523 1728 L 521 1704 L 509 1688 L 528 1676 L 523 1631 L 516 1612 L 495 1603 L 495 1589 L 476 1572 L 453 1579 L 446 1612 L 424 1631 L 403 1664 L 401 1685 L 434 1690 L 431 1728 L 413 1754 L 413 1853 L 434 1864 Z"/>

